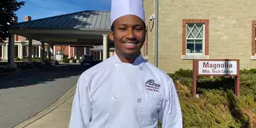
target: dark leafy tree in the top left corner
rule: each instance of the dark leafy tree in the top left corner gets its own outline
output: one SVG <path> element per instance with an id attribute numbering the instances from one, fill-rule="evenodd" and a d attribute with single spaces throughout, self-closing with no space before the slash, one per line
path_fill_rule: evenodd
<path id="1" fill-rule="evenodd" d="M 13 18 L 17 17 L 15 12 L 24 4 L 24 1 L 0 0 L 0 42 L 9 37 L 8 27 L 14 23 Z"/>

